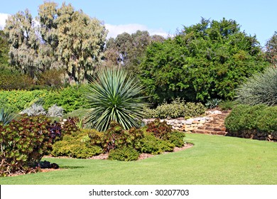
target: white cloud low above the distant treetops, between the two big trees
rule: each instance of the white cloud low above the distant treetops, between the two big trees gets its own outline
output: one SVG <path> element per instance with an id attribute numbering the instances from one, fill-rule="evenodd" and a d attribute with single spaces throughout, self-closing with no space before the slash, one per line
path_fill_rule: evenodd
<path id="1" fill-rule="evenodd" d="M 131 24 L 124 24 L 124 25 L 112 25 L 109 23 L 104 24 L 107 28 L 107 30 L 109 31 L 107 38 L 116 38 L 117 35 L 121 34 L 121 33 L 136 33 L 136 31 L 140 30 L 140 31 L 148 31 L 148 33 L 150 33 L 150 35 L 159 35 L 159 36 L 163 36 L 163 37 L 168 37 L 170 36 L 170 33 L 166 33 L 165 31 L 163 31 L 163 29 L 151 29 L 148 28 L 147 26 L 141 25 L 141 24 L 137 24 L 137 23 L 131 23 Z"/>

